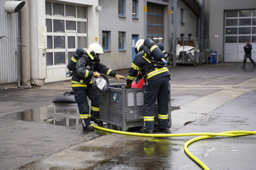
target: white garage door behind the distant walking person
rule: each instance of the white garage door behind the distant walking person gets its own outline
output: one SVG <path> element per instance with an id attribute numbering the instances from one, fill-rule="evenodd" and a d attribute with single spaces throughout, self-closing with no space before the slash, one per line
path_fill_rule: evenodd
<path id="1" fill-rule="evenodd" d="M 224 62 L 243 62 L 246 40 L 252 44 L 256 60 L 256 9 L 225 11 Z"/>

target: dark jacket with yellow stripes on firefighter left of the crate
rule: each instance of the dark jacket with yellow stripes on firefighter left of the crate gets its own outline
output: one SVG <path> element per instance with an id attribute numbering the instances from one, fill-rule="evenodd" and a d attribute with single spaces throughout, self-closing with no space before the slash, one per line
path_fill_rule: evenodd
<path id="1" fill-rule="evenodd" d="M 93 72 L 97 71 L 104 75 L 115 77 L 116 73 L 106 65 L 100 63 L 100 59 L 95 59 L 84 52 L 83 56 L 76 60 L 71 58 L 68 63 L 68 69 L 72 71 L 72 89 L 88 89 L 88 84 L 92 84 Z"/>

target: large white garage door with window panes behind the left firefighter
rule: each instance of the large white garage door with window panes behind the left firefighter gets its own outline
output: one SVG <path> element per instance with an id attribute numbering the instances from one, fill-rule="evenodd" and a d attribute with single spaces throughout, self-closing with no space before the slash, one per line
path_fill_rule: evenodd
<path id="1" fill-rule="evenodd" d="M 77 47 L 87 49 L 87 6 L 45 2 L 47 78 L 67 80 L 68 61 Z"/>

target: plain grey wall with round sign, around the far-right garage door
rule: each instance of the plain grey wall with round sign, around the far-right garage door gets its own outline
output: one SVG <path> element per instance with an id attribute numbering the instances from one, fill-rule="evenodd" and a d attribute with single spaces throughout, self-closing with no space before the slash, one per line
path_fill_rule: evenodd
<path id="1" fill-rule="evenodd" d="M 209 0 L 209 39 L 212 50 L 224 56 L 224 11 L 230 9 L 252 9 L 256 6 L 255 0 Z M 214 39 L 218 33 L 220 37 Z M 225 56 L 224 56 L 225 58 Z"/>

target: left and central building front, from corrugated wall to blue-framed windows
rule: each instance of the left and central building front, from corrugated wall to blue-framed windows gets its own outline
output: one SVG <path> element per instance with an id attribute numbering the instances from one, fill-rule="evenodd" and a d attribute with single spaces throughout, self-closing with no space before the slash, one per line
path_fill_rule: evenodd
<path id="1" fill-rule="evenodd" d="M 7 1 L 0 1 L 0 34 L 22 45 L 0 39 L 1 87 L 69 80 L 68 61 L 91 43 L 102 45 L 101 62 L 113 70 L 130 68 L 138 39 L 171 51 L 173 0 L 24 0 L 17 13 L 4 10 Z M 177 0 L 177 37 L 199 37 L 200 15 L 198 0 Z"/>

